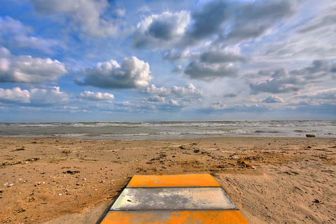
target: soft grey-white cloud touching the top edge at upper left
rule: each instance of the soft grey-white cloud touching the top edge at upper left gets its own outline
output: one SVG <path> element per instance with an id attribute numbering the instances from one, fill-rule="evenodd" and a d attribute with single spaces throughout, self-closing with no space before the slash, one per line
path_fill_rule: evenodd
<path id="1" fill-rule="evenodd" d="M 109 9 L 107 0 L 32 0 L 31 3 L 42 15 L 69 16 L 75 27 L 94 37 L 113 36 L 119 30 L 120 21 L 103 13 Z M 114 11 L 116 16 L 125 14 L 122 9 Z"/>

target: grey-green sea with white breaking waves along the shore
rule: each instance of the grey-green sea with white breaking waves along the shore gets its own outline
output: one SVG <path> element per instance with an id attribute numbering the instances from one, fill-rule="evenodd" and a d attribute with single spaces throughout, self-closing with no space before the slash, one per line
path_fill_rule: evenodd
<path id="1" fill-rule="evenodd" d="M 108 139 L 215 136 L 336 137 L 336 121 L 0 123 L 0 136 Z"/>

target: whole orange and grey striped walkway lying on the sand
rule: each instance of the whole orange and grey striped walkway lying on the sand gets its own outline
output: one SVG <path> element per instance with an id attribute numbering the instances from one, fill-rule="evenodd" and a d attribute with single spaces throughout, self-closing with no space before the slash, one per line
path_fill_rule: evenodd
<path id="1" fill-rule="evenodd" d="M 210 174 L 185 174 L 134 176 L 101 223 L 248 224 L 248 221 Z"/>

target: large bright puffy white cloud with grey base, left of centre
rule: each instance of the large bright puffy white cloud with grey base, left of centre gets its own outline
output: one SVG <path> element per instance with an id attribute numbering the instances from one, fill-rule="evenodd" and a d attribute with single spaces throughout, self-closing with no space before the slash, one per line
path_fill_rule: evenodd
<path id="1" fill-rule="evenodd" d="M 149 64 L 136 57 L 125 58 L 118 64 L 114 60 L 100 62 L 94 68 L 82 71 L 83 81 L 75 80 L 80 86 L 102 89 L 138 89 L 150 85 L 152 76 Z"/>

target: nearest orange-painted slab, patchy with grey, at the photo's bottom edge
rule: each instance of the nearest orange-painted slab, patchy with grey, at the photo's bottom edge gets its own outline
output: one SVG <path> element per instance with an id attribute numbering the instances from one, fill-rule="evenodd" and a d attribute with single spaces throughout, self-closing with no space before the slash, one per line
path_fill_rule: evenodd
<path id="1" fill-rule="evenodd" d="M 101 224 L 248 224 L 238 210 L 110 211 Z"/>

